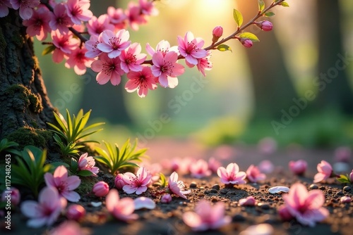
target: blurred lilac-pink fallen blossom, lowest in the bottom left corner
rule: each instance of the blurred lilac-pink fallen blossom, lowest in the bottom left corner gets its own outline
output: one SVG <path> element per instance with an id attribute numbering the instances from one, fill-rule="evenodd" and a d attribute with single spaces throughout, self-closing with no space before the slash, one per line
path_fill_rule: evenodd
<path id="1" fill-rule="evenodd" d="M 50 226 L 59 217 L 66 207 L 66 199 L 59 195 L 54 187 L 44 187 L 40 191 L 38 202 L 25 201 L 21 204 L 20 210 L 26 217 L 29 217 L 28 227 Z"/>

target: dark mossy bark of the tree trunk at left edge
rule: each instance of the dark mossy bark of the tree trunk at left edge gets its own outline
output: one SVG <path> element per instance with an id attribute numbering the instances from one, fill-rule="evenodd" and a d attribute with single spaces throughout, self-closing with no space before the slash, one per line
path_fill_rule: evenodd
<path id="1" fill-rule="evenodd" d="M 43 130 L 54 108 L 18 11 L 0 18 L 0 84 L 0 139 L 24 140 L 20 130 L 28 139 L 48 139 Z"/>

